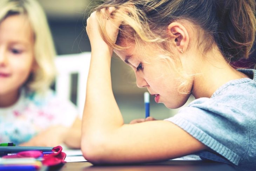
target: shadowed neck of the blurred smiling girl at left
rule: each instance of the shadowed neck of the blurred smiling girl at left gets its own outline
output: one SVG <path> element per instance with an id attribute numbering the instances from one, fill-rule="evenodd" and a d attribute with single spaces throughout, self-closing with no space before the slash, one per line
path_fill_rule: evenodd
<path id="1" fill-rule="evenodd" d="M 0 108 L 9 107 L 15 104 L 19 99 L 19 95 L 19 90 L 15 90 L 10 93 L 0 95 Z"/>

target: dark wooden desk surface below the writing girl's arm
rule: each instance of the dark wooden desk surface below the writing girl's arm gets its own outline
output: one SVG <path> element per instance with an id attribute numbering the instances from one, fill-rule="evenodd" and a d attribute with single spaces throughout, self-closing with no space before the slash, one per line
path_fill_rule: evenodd
<path id="1" fill-rule="evenodd" d="M 138 165 L 93 166 L 89 162 L 64 164 L 59 171 L 235 171 L 228 164 L 206 161 L 166 161 Z"/>

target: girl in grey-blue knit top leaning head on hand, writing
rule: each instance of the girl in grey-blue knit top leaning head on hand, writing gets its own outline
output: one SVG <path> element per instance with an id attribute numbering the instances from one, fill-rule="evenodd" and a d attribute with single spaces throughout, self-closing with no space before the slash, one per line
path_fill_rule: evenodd
<path id="1" fill-rule="evenodd" d="M 107 0 L 87 19 L 92 57 L 82 125 L 90 162 L 151 162 L 197 153 L 244 169 L 256 163 L 256 70 L 234 69 L 255 39 L 255 1 Z M 123 124 L 111 88 L 114 52 L 164 121 Z M 152 120 L 152 119 L 149 119 Z"/>

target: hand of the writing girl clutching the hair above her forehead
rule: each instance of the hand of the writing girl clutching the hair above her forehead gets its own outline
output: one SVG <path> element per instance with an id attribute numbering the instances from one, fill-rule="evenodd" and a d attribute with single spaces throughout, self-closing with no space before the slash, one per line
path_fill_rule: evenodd
<path id="1" fill-rule="evenodd" d="M 100 50 L 105 47 L 110 48 L 110 46 L 108 46 L 106 43 L 109 42 L 109 40 L 113 43 L 116 42 L 116 38 L 119 32 L 119 26 L 122 23 L 122 21 L 114 17 L 113 14 L 116 12 L 117 10 L 115 9 L 115 7 L 102 8 L 100 11 L 93 12 L 87 19 L 86 32 L 92 46 L 92 52 L 94 50 L 99 50 L 97 48 L 100 48 Z M 99 20 L 97 18 L 105 20 L 101 20 L 103 22 L 99 23 Z M 99 27 L 104 28 L 103 30 L 106 31 L 108 35 L 107 39 L 109 40 L 103 40 L 101 34 L 104 33 L 100 33 Z"/>

